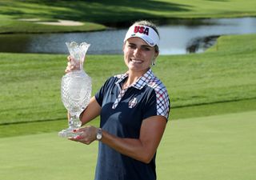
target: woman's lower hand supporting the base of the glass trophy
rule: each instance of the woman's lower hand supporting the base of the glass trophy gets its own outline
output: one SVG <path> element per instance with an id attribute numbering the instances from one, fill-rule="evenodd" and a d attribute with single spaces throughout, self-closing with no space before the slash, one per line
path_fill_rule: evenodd
<path id="1" fill-rule="evenodd" d="M 94 126 L 85 126 L 74 130 L 74 133 L 78 133 L 79 135 L 69 139 L 74 142 L 82 142 L 86 145 L 89 145 L 91 142 L 96 140 L 97 131 L 98 128 Z"/>

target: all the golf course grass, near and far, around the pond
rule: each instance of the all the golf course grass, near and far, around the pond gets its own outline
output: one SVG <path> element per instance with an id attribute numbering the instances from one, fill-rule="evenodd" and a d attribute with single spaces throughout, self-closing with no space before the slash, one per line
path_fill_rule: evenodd
<path id="1" fill-rule="evenodd" d="M 238 0 L 158 0 L 137 6 L 130 1 L 0 0 L 0 5 L 2 34 L 106 30 L 108 24 L 136 18 L 256 16 L 256 2 Z M 84 25 L 38 25 L 20 18 Z M 58 137 L 67 127 L 60 94 L 66 56 L 0 53 L 0 179 L 94 179 L 98 142 L 86 146 Z M 127 70 L 120 54 L 90 54 L 84 67 L 92 94 L 107 78 Z M 161 55 L 160 50 L 152 69 L 171 102 L 158 146 L 158 179 L 255 180 L 256 34 L 221 36 L 200 54 Z M 98 123 L 99 118 L 90 122 Z"/>

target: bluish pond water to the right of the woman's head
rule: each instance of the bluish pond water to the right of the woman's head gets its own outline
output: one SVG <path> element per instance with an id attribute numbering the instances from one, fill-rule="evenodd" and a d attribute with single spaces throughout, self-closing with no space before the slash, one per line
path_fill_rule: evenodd
<path id="1" fill-rule="evenodd" d="M 256 18 L 205 19 L 199 26 L 161 26 L 159 31 L 168 34 L 162 38 L 162 54 L 186 54 L 195 45 L 195 51 L 200 53 L 212 46 L 220 35 L 256 33 Z"/>

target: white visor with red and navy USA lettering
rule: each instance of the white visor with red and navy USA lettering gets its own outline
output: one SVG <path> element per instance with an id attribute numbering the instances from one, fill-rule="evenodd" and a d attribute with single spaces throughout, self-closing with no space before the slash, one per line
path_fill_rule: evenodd
<path id="1" fill-rule="evenodd" d="M 159 47 L 160 38 L 155 30 L 150 26 L 141 26 L 136 24 L 130 26 L 123 42 L 126 42 L 128 38 L 135 37 L 142 38 L 149 46 L 157 45 Z"/>

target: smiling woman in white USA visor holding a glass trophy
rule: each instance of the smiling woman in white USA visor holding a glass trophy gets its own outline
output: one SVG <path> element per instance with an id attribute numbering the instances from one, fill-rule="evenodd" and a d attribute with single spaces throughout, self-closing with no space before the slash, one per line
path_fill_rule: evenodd
<path id="1" fill-rule="evenodd" d="M 156 179 L 155 155 L 170 110 L 166 87 L 150 69 L 158 46 L 153 23 L 130 26 L 123 44 L 128 71 L 109 78 L 80 116 L 82 125 L 101 117 L 100 128 L 85 126 L 74 130 L 81 135 L 70 138 L 85 144 L 99 141 L 96 180 Z"/>

